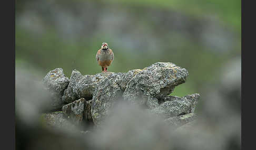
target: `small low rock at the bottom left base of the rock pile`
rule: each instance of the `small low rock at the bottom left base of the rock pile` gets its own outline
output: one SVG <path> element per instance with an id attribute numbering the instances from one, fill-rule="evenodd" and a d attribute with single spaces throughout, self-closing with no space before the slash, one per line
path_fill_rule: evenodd
<path id="1" fill-rule="evenodd" d="M 70 123 L 67 121 L 63 112 L 52 112 L 43 115 L 44 122 L 47 126 L 68 127 Z"/>

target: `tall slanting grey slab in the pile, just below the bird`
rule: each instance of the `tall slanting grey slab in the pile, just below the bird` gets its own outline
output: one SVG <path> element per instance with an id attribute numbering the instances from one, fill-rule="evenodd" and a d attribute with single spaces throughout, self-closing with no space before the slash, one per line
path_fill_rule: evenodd
<path id="1" fill-rule="evenodd" d="M 99 125 L 105 119 L 114 104 L 122 100 L 123 90 L 120 86 L 124 73 L 113 73 L 98 84 L 93 93 L 92 119 Z"/>

